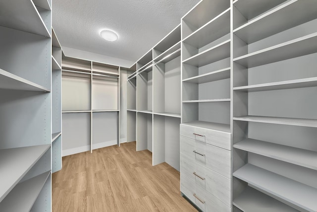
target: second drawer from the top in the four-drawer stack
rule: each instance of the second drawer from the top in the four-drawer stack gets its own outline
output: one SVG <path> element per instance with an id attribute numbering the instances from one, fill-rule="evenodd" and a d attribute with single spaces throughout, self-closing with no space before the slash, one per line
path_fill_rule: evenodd
<path id="1" fill-rule="evenodd" d="M 231 179 L 231 151 L 180 136 L 180 154 Z"/>

